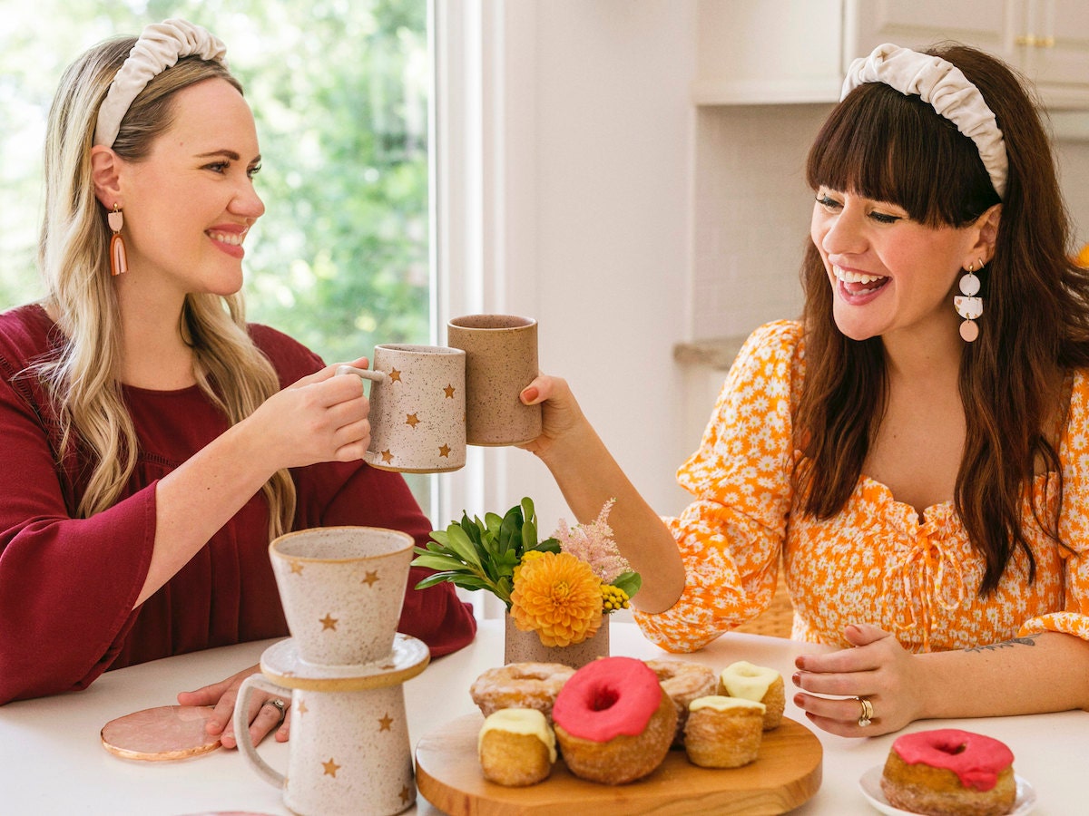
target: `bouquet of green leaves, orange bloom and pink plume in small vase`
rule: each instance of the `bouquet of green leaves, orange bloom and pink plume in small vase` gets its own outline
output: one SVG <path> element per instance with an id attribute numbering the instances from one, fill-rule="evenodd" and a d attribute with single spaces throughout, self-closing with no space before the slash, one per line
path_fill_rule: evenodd
<path id="1" fill-rule="evenodd" d="M 613 541 L 613 504 L 607 502 L 589 524 L 568 528 L 561 521 L 543 541 L 528 497 L 502 517 L 469 519 L 463 512 L 461 521 L 431 531 L 426 547 L 416 547 L 413 566 L 438 570 L 416 589 L 451 581 L 488 590 L 518 629 L 536 631 L 546 646 L 582 643 L 598 631 L 603 615 L 626 608 L 641 585 Z"/>

